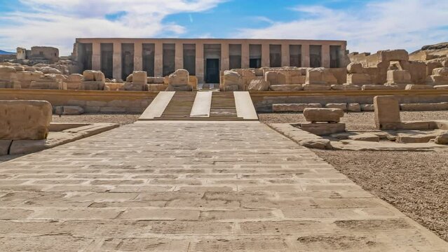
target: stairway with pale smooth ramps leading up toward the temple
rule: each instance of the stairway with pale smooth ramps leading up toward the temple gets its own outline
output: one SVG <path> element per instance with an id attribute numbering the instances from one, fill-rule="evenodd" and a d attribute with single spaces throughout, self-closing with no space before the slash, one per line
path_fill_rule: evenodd
<path id="1" fill-rule="evenodd" d="M 257 121 L 249 92 L 160 92 L 139 120 Z"/>

